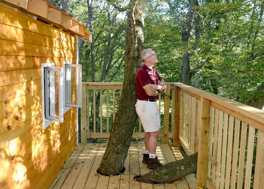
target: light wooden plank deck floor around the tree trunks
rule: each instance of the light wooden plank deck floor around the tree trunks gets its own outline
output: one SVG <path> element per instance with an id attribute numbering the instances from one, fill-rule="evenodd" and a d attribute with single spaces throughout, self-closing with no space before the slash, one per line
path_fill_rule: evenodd
<path id="1" fill-rule="evenodd" d="M 133 180 L 135 175 L 143 175 L 150 170 L 142 163 L 144 144 L 131 143 L 124 167 L 126 171 L 119 176 L 102 176 L 96 173 L 103 158 L 107 144 L 79 144 L 62 167 L 50 189 L 196 189 L 193 175 L 174 184 L 146 184 Z M 162 164 L 179 160 L 182 154 L 168 144 L 158 144 L 156 154 Z"/>

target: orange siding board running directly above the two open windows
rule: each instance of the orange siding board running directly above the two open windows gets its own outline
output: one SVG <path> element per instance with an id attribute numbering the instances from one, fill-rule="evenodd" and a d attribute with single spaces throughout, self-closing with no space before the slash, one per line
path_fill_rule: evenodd
<path id="1" fill-rule="evenodd" d="M 41 63 L 55 63 L 55 67 L 63 65 L 63 61 L 71 61 L 76 64 L 76 58 L 56 58 L 56 57 L 39 57 L 39 56 L 16 56 L 16 55 L 0 55 L 0 70 L 24 70 L 41 68 Z"/>

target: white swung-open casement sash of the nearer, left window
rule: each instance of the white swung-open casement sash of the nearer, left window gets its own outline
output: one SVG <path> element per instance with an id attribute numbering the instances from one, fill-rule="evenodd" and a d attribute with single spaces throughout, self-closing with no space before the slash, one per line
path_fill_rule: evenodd
<path id="1" fill-rule="evenodd" d="M 50 110 L 50 106 L 55 106 L 55 99 L 53 99 L 53 101 L 51 101 L 51 105 L 49 104 L 48 101 L 48 96 L 49 96 L 49 85 L 45 85 L 45 111 L 46 111 L 46 118 L 50 119 L 50 120 L 54 120 L 57 122 L 63 122 L 63 68 L 59 68 L 59 67 L 48 67 L 46 68 L 45 71 L 45 84 L 47 84 L 49 82 L 49 77 L 48 77 L 48 73 L 49 71 L 51 72 L 58 72 L 58 117 L 54 117 L 54 116 L 50 116 L 49 115 L 49 110 Z M 51 75 L 52 76 L 52 75 Z M 55 81 L 55 76 L 53 76 L 54 81 Z M 51 79 L 53 79 L 51 78 Z M 51 83 L 51 90 L 54 89 L 54 83 Z M 55 91 L 54 91 L 55 93 Z M 55 95 L 55 94 L 54 94 Z"/>

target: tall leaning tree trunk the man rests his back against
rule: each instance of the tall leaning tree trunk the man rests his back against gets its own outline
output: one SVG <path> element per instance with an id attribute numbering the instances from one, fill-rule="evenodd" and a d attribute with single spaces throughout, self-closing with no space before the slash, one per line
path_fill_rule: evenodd
<path id="1" fill-rule="evenodd" d="M 132 15 L 128 16 L 122 96 L 107 149 L 98 169 L 98 172 L 103 175 L 117 175 L 122 171 L 137 120 L 134 106 L 137 101 L 135 77 L 137 69 L 142 66 L 140 52 L 144 49 L 144 15 L 148 0 L 134 1 L 131 4 L 135 2 L 137 6 L 133 6 L 136 7 L 133 10 L 133 7 L 131 8 Z M 134 19 L 135 17 L 137 19 Z"/>

